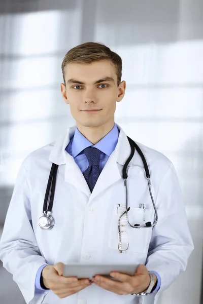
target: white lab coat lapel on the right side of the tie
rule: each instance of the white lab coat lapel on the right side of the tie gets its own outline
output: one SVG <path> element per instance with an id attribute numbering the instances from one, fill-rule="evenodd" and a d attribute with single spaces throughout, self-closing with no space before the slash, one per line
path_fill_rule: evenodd
<path id="1" fill-rule="evenodd" d="M 118 126 L 119 127 L 119 126 Z M 105 191 L 106 188 L 111 186 L 122 178 L 122 172 L 120 173 L 118 164 L 124 165 L 130 155 L 130 145 L 127 136 L 123 130 L 119 127 L 120 133 L 115 150 L 110 155 L 104 169 L 101 171 L 97 182 L 94 186 L 89 202 L 92 201 L 99 193 Z M 132 165 L 132 160 L 128 166 Z"/>

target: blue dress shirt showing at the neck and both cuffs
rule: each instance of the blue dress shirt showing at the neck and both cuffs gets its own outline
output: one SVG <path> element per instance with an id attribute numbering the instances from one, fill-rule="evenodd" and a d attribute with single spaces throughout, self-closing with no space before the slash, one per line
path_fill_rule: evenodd
<path id="1" fill-rule="evenodd" d="M 103 170 L 104 166 L 106 165 L 110 155 L 115 150 L 115 147 L 118 142 L 118 136 L 119 136 L 119 129 L 116 124 L 114 124 L 113 129 L 101 140 L 99 140 L 95 145 L 93 145 L 87 138 L 85 138 L 82 133 L 76 128 L 75 133 L 70 138 L 69 144 L 66 146 L 65 150 L 67 153 L 69 153 L 71 156 L 73 156 L 76 164 L 80 168 L 81 172 L 83 173 L 88 167 L 89 163 L 87 160 L 87 157 L 85 156 L 83 150 L 89 146 L 95 147 L 101 151 L 100 158 L 99 158 L 99 173 Z M 36 276 L 35 281 L 35 287 L 36 292 L 41 292 L 41 290 L 44 290 L 41 287 L 40 284 L 40 278 L 42 270 L 45 266 L 48 264 L 42 265 Z M 150 271 L 151 273 L 154 273 L 157 277 L 157 286 L 154 289 L 153 292 L 157 291 L 160 288 L 161 285 L 161 278 L 160 276 L 153 271 Z"/>

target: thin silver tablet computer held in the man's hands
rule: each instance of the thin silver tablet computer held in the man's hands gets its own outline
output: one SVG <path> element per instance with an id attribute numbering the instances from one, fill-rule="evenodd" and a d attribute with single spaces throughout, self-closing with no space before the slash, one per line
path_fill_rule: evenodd
<path id="1" fill-rule="evenodd" d="M 110 277 L 112 271 L 134 275 L 139 264 L 64 264 L 64 277 L 77 277 L 78 279 L 90 279 L 95 275 Z M 111 277 L 111 279 L 113 279 Z"/>

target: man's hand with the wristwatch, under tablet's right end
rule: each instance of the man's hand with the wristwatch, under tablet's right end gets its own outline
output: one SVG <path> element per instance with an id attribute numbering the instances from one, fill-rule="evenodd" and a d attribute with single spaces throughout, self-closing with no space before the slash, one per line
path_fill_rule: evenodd
<path id="1" fill-rule="evenodd" d="M 139 265 L 137 272 L 133 276 L 121 274 L 118 272 L 111 272 L 110 275 L 120 282 L 98 275 L 92 279 L 92 282 L 97 286 L 120 295 L 144 292 L 147 290 L 150 284 L 150 276 L 145 265 Z M 154 274 L 153 276 L 155 279 L 155 285 L 157 277 Z"/>

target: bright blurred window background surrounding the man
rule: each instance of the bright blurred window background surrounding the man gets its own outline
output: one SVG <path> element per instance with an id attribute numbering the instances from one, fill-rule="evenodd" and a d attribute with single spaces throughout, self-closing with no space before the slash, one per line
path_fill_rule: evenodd
<path id="1" fill-rule="evenodd" d="M 170 158 L 179 176 L 195 250 L 159 304 L 202 303 L 202 0 L 0 1 L 0 227 L 24 158 L 75 124 L 60 66 L 88 41 L 123 60 L 116 122 Z M 1 304 L 24 303 L 2 264 L 0 281 Z"/>

